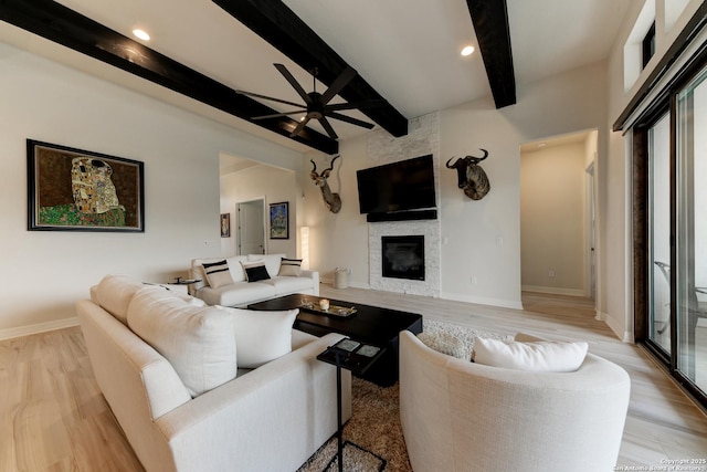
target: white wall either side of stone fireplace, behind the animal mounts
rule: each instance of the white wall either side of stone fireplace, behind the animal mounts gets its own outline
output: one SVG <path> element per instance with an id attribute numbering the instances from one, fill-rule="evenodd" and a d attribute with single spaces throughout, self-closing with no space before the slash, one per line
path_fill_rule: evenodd
<path id="1" fill-rule="evenodd" d="M 440 113 L 442 297 L 520 307 L 520 144 L 598 128 L 601 157 L 605 117 L 605 67 L 601 63 L 519 87 L 518 104 L 507 108 L 496 109 L 488 97 Z M 479 147 L 489 151 L 482 167 L 492 190 L 483 200 L 472 201 L 457 188 L 456 171 L 446 169 L 444 162 L 452 156 L 479 154 Z M 365 137 L 341 143 L 340 153 L 329 183 L 341 193 L 341 212 L 329 213 L 320 204 L 318 190 L 305 176 L 307 170 L 302 175 L 304 224 L 310 227 L 313 266 L 323 279 L 336 266 L 351 266 L 351 284 L 367 286 L 368 227 L 358 210 L 356 170 L 372 164 Z M 305 159 L 312 157 L 318 166 L 328 162 L 316 153 Z"/>

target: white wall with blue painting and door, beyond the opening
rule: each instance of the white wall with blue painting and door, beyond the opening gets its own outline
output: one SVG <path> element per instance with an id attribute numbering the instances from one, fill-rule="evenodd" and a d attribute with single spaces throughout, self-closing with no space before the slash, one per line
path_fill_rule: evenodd
<path id="1" fill-rule="evenodd" d="M 297 158 L 299 161 L 299 158 Z M 221 176 L 221 212 L 231 213 L 231 238 L 222 239 L 222 248 L 228 254 L 236 254 L 238 222 L 235 206 L 241 201 L 265 199 L 265 218 L 268 204 L 287 201 L 289 203 L 289 239 L 270 239 L 266 225 L 266 252 L 297 256 L 297 207 L 302 200 L 302 188 L 297 174 L 273 166 L 258 165 L 245 170 Z"/>

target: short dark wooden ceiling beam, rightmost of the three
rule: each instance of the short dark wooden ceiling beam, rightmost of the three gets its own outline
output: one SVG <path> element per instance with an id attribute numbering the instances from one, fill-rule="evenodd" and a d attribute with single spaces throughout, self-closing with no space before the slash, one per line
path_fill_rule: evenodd
<path id="1" fill-rule="evenodd" d="M 516 104 L 506 0 L 466 0 L 496 108 Z"/>

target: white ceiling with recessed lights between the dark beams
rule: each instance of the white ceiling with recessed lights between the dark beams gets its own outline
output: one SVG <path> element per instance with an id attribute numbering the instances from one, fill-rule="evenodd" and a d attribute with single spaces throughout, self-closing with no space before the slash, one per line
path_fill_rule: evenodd
<path id="1" fill-rule="evenodd" d="M 507 0 L 516 83 L 526 84 L 605 59 L 631 2 L 641 0 Z M 408 118 L 490 94 L 478 49 L 468 57 L 460 55 L 463 45 L 476 46 L 465 0 L 284 2 Z M 128 36 L 134 28 L 141 27 L 152 36 L 146 43 L 149 48 L 235 90 L 302 102 L 273 67 L 275 62 L 285 64 L 305 90 L 313 86 L 307 71 L 210 0 L 59 3 Z M 7 23 L 0 24 L 0 40 L 17 44 L 11 34 L 17 31 L 10 30 Z M 67 52 L 64 59 L 53 50 L 52 57 L 81 67 L 76 53 Z M 95 71 L 95 60 L 86 61 Z M 135 78 L 109 65 L 99 67 L 102 76 L 112 75 L 112 80 L 135 87 Z M 143 92 L 163 99 L 158 88 Z M 317 85 L 317 91 L 324 90 L 326 86 Z M 275 109 L 291 109 L 287 105 L 283 108 L 273 102 L 264 103 Z M 191 108 L 224 122 L 210 107 Z M 359 112 L 344 113 L 369 120 Z M 257 128 L 243 119 L 226 122 L 247 132 Z M 331 124 L 342 139 L 366 133 L 342 122 L 333 119 Z M 303 145 L 274 133 L 255 133 L 303 149 Z"/>

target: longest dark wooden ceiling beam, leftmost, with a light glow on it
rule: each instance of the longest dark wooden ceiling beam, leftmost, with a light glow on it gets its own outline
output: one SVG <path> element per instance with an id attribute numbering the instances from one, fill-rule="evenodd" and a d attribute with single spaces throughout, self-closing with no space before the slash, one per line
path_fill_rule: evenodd
<path id="1" fill-rule="evenodd" d="M 298 124 L 288 117 L 251 119 L 277 111 L 55 1 L 0 0 L 0 20 L 282 136 L 289 138 Z M 291 139 L 326 154 L 339 148 L 335 139 L 310 128 Z"/>

